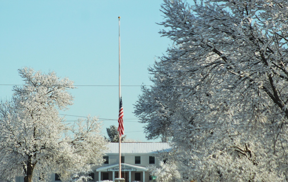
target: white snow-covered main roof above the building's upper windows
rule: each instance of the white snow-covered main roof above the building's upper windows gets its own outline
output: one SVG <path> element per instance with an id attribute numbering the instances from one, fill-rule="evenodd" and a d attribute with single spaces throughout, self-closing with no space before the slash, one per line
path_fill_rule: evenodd
<path id="1" fill-rule="evenodd" d="M 118 154 L 119 143 L 109 143 L 106 154 Z M 123 154 L 151 154 L 157 152 L 169 152 L 169 143 L 162 142 L 123 142 L 121 143 L 121 153 Z"/>

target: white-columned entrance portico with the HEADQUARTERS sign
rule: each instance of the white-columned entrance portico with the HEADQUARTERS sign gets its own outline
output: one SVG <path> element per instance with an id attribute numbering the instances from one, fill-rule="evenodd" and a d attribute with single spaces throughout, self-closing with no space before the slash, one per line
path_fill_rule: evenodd
<path id="1" fill-rule="evenodd" d="M 101 168 L 96 169 L 96 171 L 98 172 L 98 181 L 101 181 L 101 173 L 104 173 L 104 172 L 112 173 L 112 181 L 115 181 L 115 177 L 118 177 L 119 164 L 101 167 Z M 128 174 L 127 174 L 127 172 L 128 172 Z M 137 172 L 142 172 L 142 178 L 141 178 L 142 180 L 141 181 L 145 182 L 145 172 L 147 172 L 147 168 L 121 163 L 121 173 L 122 173 L 121 175 L 123 177 L 125 175 L 125 181 L 126 182 L 128 182 L 128 181 L 131 182 L 132 177 L 133 177 L 133 179 L 135 179 L 135 176 L 132 176 L 132 175 L 134 175 Z"/>

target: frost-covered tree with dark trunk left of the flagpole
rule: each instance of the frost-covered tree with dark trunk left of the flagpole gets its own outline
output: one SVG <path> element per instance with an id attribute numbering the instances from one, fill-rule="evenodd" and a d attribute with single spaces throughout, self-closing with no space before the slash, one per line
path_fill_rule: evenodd
<path id="1" fill-rule="evenodd" d="M 68 92 L 73 82 L 32 68 L 19 69 L 19 74 L 25 84 L 14 87 L 10 101 L 0 102 L 0 180 L 24 176 L 24 182 L 31 182 L 58 173 L 62 181 L 71 181 L 90 164 L 102 163 L 106 141 L 98 119 L 71 126 L 59 117 L 58 110 L 73 104 Z"/>

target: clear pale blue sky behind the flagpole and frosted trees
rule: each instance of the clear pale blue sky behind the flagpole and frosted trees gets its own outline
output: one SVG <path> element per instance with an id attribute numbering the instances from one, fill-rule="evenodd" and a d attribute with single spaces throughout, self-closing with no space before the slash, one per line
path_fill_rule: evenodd
<path id="1" fill-rule="evenodd" d="M 158 33 L 163 28 L 156 24 L 163 21 L 161 3 L 0 0 L 0 97 L 11 97 L 11 84 L 23 84 L 17 71 L 23 66 L 54 70 L 75 85 L 118 85 L 118 16 L 122 85 L 151 85 L 147 68 L 171 44 Z M 77 87 L 71 91 L 74 105 L 60 114 L 115 119 L 103 121 L 103 134 L 106 127 L 118 126 L 118 87 Z M 124 129 L 128 138 L 146 141 L 143 124 L 132 113 L 139 94 L 139 86 L 122 87 Z"/>

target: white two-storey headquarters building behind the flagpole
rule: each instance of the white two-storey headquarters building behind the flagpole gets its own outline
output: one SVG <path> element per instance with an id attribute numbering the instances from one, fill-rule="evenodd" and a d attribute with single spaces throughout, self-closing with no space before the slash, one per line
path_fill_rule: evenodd
<path id="1" fill-rule="evenodd" d="M 94 166 L 94 180 L 111 180 L 118 177 L 119 143 L 109 143 L 110 151 L 103 156 L 106 161 L 102 166 Z M 121 176 L 126 182 L 151 181 L 147 166 L 159 166 L 162 158 L 155 157 L 158 152 L 168 152 L 168 143 L 124 142 L 121 143 Z M 93 175 L 93 173 L 92 173 Z"/>

